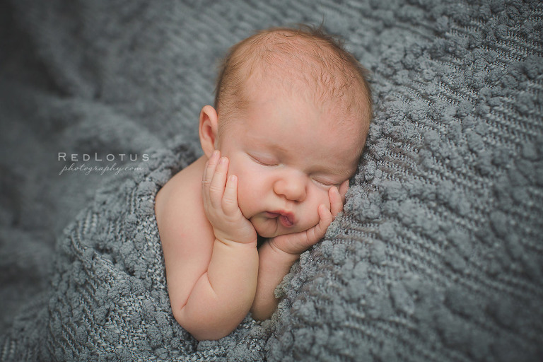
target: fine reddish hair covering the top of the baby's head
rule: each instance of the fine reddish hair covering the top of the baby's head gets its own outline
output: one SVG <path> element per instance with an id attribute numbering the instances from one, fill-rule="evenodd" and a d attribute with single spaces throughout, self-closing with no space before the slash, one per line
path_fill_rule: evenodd
<path id="1" fill-rule="evenodd" d="M 251 107 L 255 94 L 273 87 L 301 95 L 315 107 L 336 105 L 343 122 L 362 124 L 366 134 L 372 116 L 367 75 L 353 55 L 320 28 L 262 30 L 238 42 L 223 59 L 214 101 L 219 128 Z"/>

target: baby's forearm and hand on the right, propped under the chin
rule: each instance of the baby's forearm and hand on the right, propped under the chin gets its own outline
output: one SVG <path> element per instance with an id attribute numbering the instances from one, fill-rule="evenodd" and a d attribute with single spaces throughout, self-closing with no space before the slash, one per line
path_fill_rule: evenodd
<path id="1" fill-rule="evenodd" d="M 266 241 L 259 249 L 258 284 L 251 312 L 255 320 L 266 320 L 274 313 L 279 300 L 275 298 L 276 286 L 290 271 L 300 254 L 324 238 L 334 217 L 343 209 L 344 197 L 349 182 L 329 189 L 330 210 L 324 204 L 318 209 L 320 221 L 317 225 L 300 233 L 280 235 Z"/>

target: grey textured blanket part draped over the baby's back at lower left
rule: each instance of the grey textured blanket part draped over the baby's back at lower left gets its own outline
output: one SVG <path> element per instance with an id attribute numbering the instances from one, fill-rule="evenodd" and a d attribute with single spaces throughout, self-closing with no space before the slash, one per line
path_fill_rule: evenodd
<path id="1" fill-rule="evenodd" d="M 154 197 L 195 154 L 186 145 L 151 152 L 132 179 L 98 190 L 59 240 L 52 292 L 17 321 L 25 338 L 12 335 L 3 358 L 205 361 L 240 342 L 242 332 L 221 344 L 199 344 L 171 313 Z M 34 318 L 39 323 L 29 328 Z M 247 318 L 240 329 L 251 323 Z"/>

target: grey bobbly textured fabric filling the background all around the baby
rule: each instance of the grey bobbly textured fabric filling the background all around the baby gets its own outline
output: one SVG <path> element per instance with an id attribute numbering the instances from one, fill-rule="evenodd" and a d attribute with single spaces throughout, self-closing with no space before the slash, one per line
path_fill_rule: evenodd
<path id="1" fill-rule="evenodd" d="M 520 0 L 4 2 L 0 359 L 542 360 L 542 14 Z M 161 320 L 162 337 L 143 334 L 141 349 L 117 348 L 115 329 L 89 339 L 89 325 L 74 325 L 77 291 L 103 269 L 71 273 L 95 259 L 74 262 L 66 235 L 117 225 L 135 212 L 119 200 L 152 197 L 143 175 L 188 161 L 171 152 L 197 149 L 197 115 L 230 45 L 323 19 L 372 71 L 375 121 L 344 213 L 278 288 L 277 313 L 198 344 L 168 322 L 153 286 L 127 292 L 104 277 L 109 299 L 87 309 L 94 328 L 153 295 L 134 318 L 148 331 Z M 59 175 L 59 152 L 159 156 L 143 173 Z M 89 210 L 119 213 L 85 223 Z M 116 255 L 115 272 L 145 285 L 151 271 L 130 274 L 136 252 L 114 249 L 102 254 Z"/>

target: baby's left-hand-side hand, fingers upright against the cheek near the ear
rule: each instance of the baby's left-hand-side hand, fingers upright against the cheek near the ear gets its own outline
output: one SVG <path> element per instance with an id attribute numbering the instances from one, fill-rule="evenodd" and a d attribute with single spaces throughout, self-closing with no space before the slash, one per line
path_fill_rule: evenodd
<path id="1" fill-rule="evenodd" d="M 238 177 L 228 175 L 228 158 L 214 151 L 204 168 L 202 200 L 215 238 L 223 243 L 256 243 L 257 232 L 238 206 Z"/>

